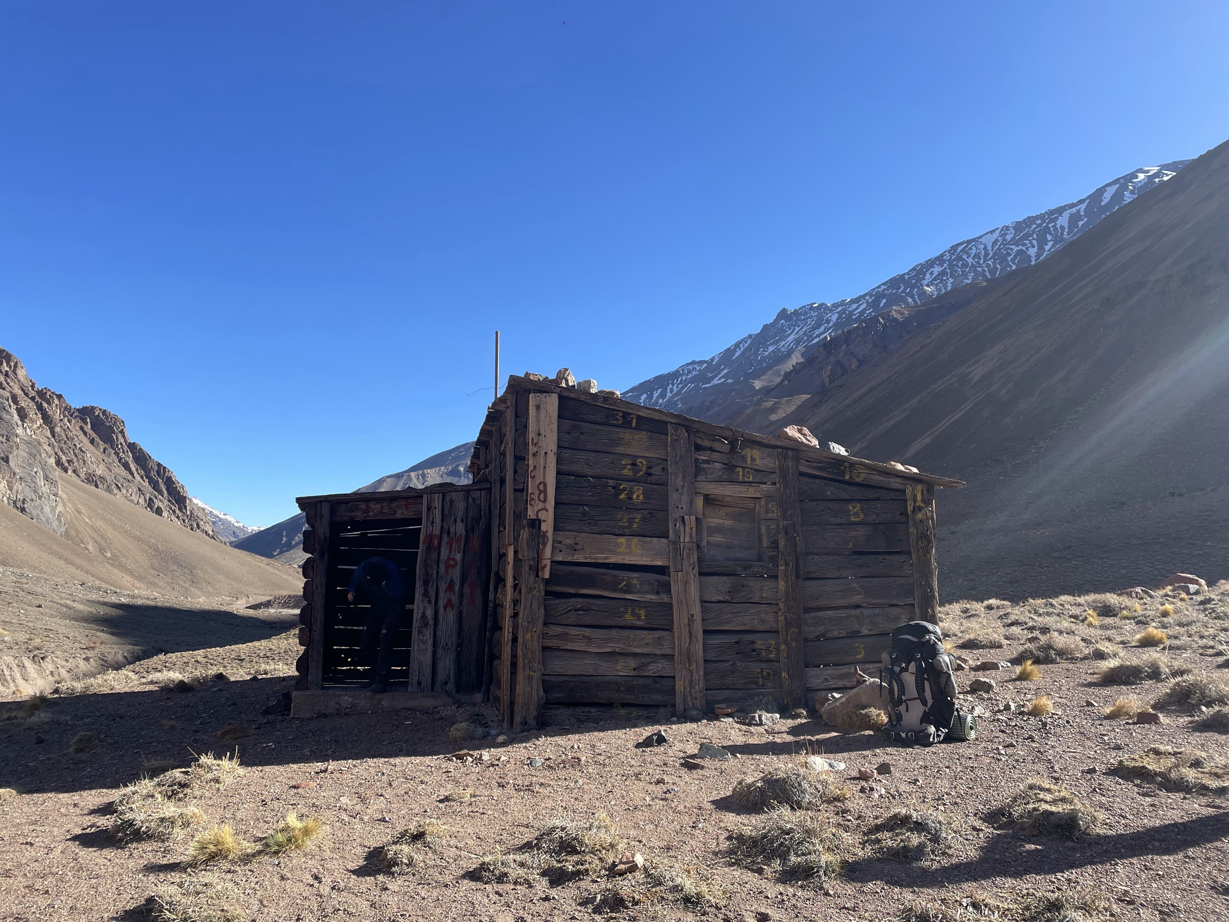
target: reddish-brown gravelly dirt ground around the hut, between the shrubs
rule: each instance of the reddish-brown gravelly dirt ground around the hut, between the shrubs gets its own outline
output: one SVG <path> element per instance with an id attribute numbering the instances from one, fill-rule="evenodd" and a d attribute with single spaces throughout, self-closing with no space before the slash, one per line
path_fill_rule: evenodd
<path id="1" fill-rule="evenodd" d="M 944 626 L 957 644 L 972 637 L 972 643 L 998 643 L 992 634 L 1004 634 L 1002 648 L 957 645 L 956 652 L 973 660 L 1009 660 L 1030 637 L 1079 639 L 1095 629 L 1129 644 L 1145 622 L 1164 620 L 1181 648 L 1168 653 L 1170 665 L 1227 679 L 1229 669 L 1219 664 L 1229 652 L 1217 649 L 1229 623 L 1227 602 L 1229 584 L 1207 600 L 1172 600 L 1169 615 L 1159 613 L 1166 600 L 1144 600 L 1134 612 L 1134 602 L 1121 596 L 1019 606 L 960 602 L 944 610 Z M 1102 616 L 1090 626 L 1080 618 L 1093 604 L 1131 615 Z M 1091 638 L 1082 643 L 1090 655 Z M 601 908 L 594 897 L 607 883 L 603 874 L 558 886 L 484 884 L 468 874 L 483 856 L 515 849 L 552 819 L 587 821 L 600 811 L 650 865 L 686 868 L 714 895 L 709 906 L 665 902 L 623 910 L 621 918 L 892 920 L 917 901 L 1080 886 L 1107 896 L 1116 918 L 1229 918 L 1229 797 L 1170 793 L 1107 773 L 1118 760 L 1158 744 L 1224 756 L 1229 736 L 1195 729 L 1196 713 L 1182 709 L 1163 711 L 1164 723 L 1152 725 L 1106 719 L 1102 711 L 1118 696 L 1150 702 L 1166 682 L 1106 686 L 1097 680 L 1105 664 L 1094 659 L 1042 665 L 1040 680 L 1030 682 L 1009 681 L 1014 670 L 962 671 L 961 688 L 975 677 L 998 685 L 962 697 L 965 707 L 983 712 L 978 738 L 905 749 L 869 731 L 834 733 L 814 717 L 771 727 L 680 724 L 607 708 L 554 714 L 556 725 L 508 743 L 490 736 L 458 743 L 450 728 L 460 722 L 494 728 L 493 715 L 481 706 L 306 720 L 265 713 L 290 690 L 297 653 L 293 632 L 170 652 L 123 670 L 129 679 L 100 677 L 76 688 L 81 693 L 52 696 L 34 709 L 25 702 L 0 706 L 7 718 L 0 722 L 0 787 L 16 792 L 0 800 L 0 920 L 149 918 L 146 899 L 156 890 L 202 879 L 234 889 L 242 908 L 235 918 L 261 922 L 586 918 Z M 1148 654 L 1128 648 L 1121 655 Z M 226 680 L 206 681 L 218 671 Z M 168 675 L 198 687 L 156 687 L 168 686 Z M 1056 706 L 1047 718 L 1003 709 L 1042 693 Z M 219 730 L 235 724 L 251 735 L 220 740 Z M 659 728 L 667 745 L 635 747 Z M 98 739 L 81 744 L 81 734 Z M 88 751 L 74 751 L 74 740 Z M 734 757 L 683 767 L 682 757 L 702 743 Z M 452 754 L 461 746 L 489 756 L 457 761 Z M 116 841 L 111 804 L 144 765 L 171 760 L 186 766 L 194 754 L 236 749 L 243 774 L 195 802 L 209 821 L 230 822 L 257 841 L 295 810 L 323 822 L 318 842 L 302 852 L 195 872 L 183 864 L 190 836 Z M 839 877 L 819 885 L 783 883 L 768 869 L 740 865 L 729 854 L 729 836 L 757 818 L 734 803 L 735 783 L 804 752 L 846 762 L 837 779 L 849 797 L 821 811 L 834 827 L 858 832 L 893 810 L 916 808 L 950 825 L 955 852 L 917 863 L 854 856 Z M 885 761 L 890 774 L 869 783 L 857 777 L 859 768 Z M 1100 810 L 1099 833 L 1067 841 L 1023 835 L 1003 822 L 994 811 L 1031 778 L 1058 781 Z M 447 799 L 458 792 L 472 795 Z M 372 849 L 424 820 L 447 830 L 438 859 L 407 875 L 376 873 Z"/>

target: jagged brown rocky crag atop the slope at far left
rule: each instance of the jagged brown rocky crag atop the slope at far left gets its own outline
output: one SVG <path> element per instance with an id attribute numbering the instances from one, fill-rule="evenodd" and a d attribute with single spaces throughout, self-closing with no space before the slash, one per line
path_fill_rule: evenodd
<path id="1" fill-rule="evenodd" d="M 63 476 L 216 537 L 175 473 L 129 441 L 123 419 L 102 407 L 73 407 L 0 349 L 0 502 L 63 535 Z"/>

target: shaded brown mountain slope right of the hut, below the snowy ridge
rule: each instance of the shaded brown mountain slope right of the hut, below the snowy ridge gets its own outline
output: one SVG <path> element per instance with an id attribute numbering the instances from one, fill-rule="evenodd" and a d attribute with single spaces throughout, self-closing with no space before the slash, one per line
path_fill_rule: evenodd
<path id="1" fill-rule="evenodd" d="M 967 481 L 938 500 L 945 599 L 1229 578 L 1229 143 L 1045 262 L 817 353 L 739 419 Z"/>

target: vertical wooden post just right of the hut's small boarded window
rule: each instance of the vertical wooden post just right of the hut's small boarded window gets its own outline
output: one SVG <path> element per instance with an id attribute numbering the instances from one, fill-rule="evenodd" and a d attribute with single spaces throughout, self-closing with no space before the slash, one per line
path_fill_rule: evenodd
<path id="1" fill-rule="evenodd" d="M 798 452 L 777 450 L 777 629 L 780 692 L 787 709 L 806 707 L 803 661 L 803 524 L 798 502 Z"/>

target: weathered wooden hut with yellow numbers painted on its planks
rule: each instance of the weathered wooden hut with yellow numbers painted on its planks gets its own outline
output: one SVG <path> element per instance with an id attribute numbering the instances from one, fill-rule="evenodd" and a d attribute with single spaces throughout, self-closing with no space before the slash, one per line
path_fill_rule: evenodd
<path id="1" fill-rule="evenodd" d="M 544 704 L 803 707 L 878 668 L 892 628 L 936 620 L 934 492 L 964 486 L 528 376 L 469 471 L 299 500 L 296 712 L 369 675 L 345 593 L 370 556 L 406 574 L 393 680 L 420 703 L 489 699 L 510 729 Z"/>

